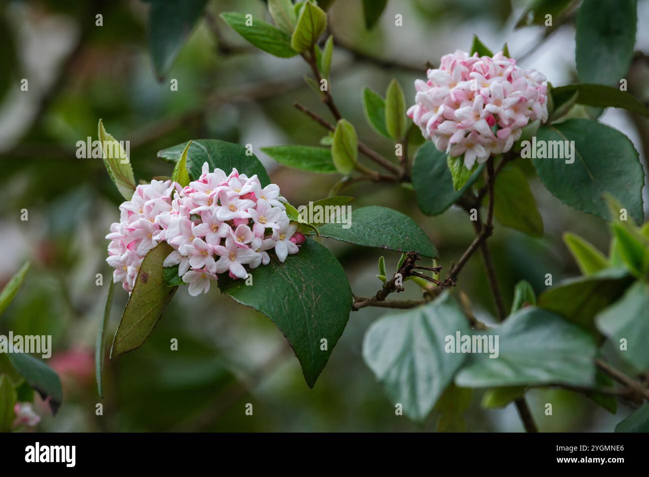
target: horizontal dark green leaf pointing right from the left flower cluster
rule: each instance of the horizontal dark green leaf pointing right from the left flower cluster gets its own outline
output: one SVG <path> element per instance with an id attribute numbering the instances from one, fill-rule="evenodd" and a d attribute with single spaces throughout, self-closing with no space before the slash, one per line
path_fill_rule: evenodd
<path id="1" fill-rule="evenodd" d="M 345 228 L 347 227 L 347 228 Z M 320 235 L 344 242 L 378 247 L 397 252 L 417 251 L 422 256 L 439 258 L 437 249 L 426 232 L 408 215 L 379 206 L 352 210 L 350 222 L 326 223 L 319 227 Z"/>

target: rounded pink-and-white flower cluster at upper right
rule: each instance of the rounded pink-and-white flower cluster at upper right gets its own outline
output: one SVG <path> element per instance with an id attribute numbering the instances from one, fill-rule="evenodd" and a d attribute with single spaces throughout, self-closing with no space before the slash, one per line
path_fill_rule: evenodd
<path id="1" fill-rule="evenodd" d="M 439 151 L 464 154 L 468 169 L 509 151 L 529 121 L 548 119 L 545 76 L 516 66 L 502 51 L 480 57 L 458 50 L 427 76 L 428 82 L 415 81 L 408 117 Z"/>

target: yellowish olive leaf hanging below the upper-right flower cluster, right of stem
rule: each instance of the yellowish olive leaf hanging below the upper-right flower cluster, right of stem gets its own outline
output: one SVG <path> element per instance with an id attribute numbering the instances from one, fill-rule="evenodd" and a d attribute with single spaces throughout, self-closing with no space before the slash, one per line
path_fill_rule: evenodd
<path id="1" fill-rule="evenodd" d="M 506 165 L 496 176 L 493 213 L 502 225 L 543 237 L 543 218 L 523 171 Z"/>

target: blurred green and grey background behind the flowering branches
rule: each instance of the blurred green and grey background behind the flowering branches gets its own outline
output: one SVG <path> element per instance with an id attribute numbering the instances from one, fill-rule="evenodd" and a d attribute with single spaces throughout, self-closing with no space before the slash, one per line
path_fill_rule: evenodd
<path id="1" fill-rule="evenodd" d="M 327 2 L 332 3 L 332 2 Z M 511 56 L 539 69 L 555 86 L 576 79 L 574 26 L 556 29 L 543 43 L 543 27 L 515 30 L 524 7 L 517 0 L 390 0 L 378 25 L 367 31 L 361 0 L 338 0 L 329 8 L 336 36 L 331 92 L 360 138 L 386 155 L 389 141 L 376 136 L 361 107 L 361 87 L 384 94 L 400 80 L 414 98 L 413 81 L 424 77 L 426 62 L 455 49 L 469 50 L 477 34 L 497 51 L 508 42 Z M 121 196 L 99 159 L 79 159 L 76 143 L 96 139 L 102 118 L 108 132 L 130 141 L 136 179 L 171 175 L 156 158 L 160 149 L 186 140 L 217 138 L 251 143 L 271 179 L 296 206 L 326 197 L 337 175 L 286 169 L 260 152 L 267 145 L 317 145 L 317 125 L 291 107 L 300 101 L 329 118 L 306 86 L 301 58 L 275 58 L 252 49 L 218 14 L 236 10 L 264 18 L 260 0 L 210 0 L 207 16 L 191 32 L 170 73 L 158 82 L 147 47 L 150 5 L 139 0 L 6 1 L 0 4 L 0 286 L 27 260 L 32 267 L 14 303 L 0 317 L 0 333 L 49 334 L 54 354 L 47 361 L 62 376 L 64 404 L 56 417 L 45 406 L 42 431 L 423 431 L 435 430 L 437 415 L 424 426 L 397 417 L 361 357 L 365 330 L 380 308 L 350 315 L 347 329 L 314 389 L 308 389 L 297 359 L 273 323 L 260 313 L 221 297 L 217 287 L 192 298 L 180 289 L 147 343 L 106 363 L 103 400 L 94 377 L 94 343 L 103 314 L 111 269 L 104 261 L 110 223 L 117 221 Z M 103 26 L 95 26 L 95 15 Z M 402 14 L 404 27 L 395 28 Z M 267 19 L 267 18 L 266 18 Z M 639 2 L 639 25 L 649 19 L 649 2 Z M 538 46 L 538 47 L 537 47 Z M 649 51 L 649 31 L 639 27 L 636 49 Z M 20 90 L 21 79 L 29 90 Z M 169 88 L 178 80 L 178 91 Z M 649 99 L 644 55 L 633 62 L 629 89 Z M 646 170 L 649 124 L 622 110 L 607 110 L 602 121 L 630 136 Z M 532 179 L 545 237 L 533 239 L 496 226 L 490 240 L 506 301 L 513 285 L 528 280 L 540 292 L 546 273 L 555 282 L 579 275 L 561 241 L 572 231 L 607 251 L 604 221 L 563 206 Z M 417 221 L 450 267 L 473 238 L 471 223 L 452 208 L 437 217 L 419 212 L 413 191 L 402 186 L 354 184 L 344 192 L 354 204 L 378 204 Z M 648 193 L 644 188 L 645 213 Z M 21 221 L 27 209 L 29 220 Z M 371 295 L 380 282 L 376 262 L 382 252 L 325 241 L 343 263 L 352 290 Z M 387 252 L 388 270 L 398 254 Z M 103 273 L 104 285 L 95 284 Z M 471 297 L 478 319 L 493 322 L 493 304 L 479 254 L 465 267 L 458 288 Z M 417 298 L 411 284 L 404 298 Z M 110 336 L 127 293 L 116 287 Z M 178 350 L 169 340 L 178 339 Z M 38 398 L 37 398 L 38 399 Z M 542 431 L 609 431 L 630 409 L 616 416 L 569 391 L 532 390 L 528 400 Z M 543 415 L 552 400 L 554 415 Z M 103 402 L 104 415 L 95 415 Z M 245 415 L 252 403 L 254 415 Z M 473 394 L 465 415 L 474 432 L 520 431 L 513 405 L 482 410 Z"/>

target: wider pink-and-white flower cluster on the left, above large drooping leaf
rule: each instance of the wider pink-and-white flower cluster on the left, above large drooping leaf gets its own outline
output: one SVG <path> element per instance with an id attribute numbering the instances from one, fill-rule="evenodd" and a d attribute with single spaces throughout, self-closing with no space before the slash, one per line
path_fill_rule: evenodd
<path id="1" fill-rule="evenodd" d="M 284 200 L 276 184 L 262 188 L 256 175 L 236 169 L 230 175 L 221 169 L 210 172 L 207 163 L 199 180 L 184 188 L 171 180 L 140 185 L 119 206 L 120 221 L 106 236 L 113 280 L 132 291 L 144 256 L 161 241 L 174 249 L 163 265 L 178 265 L 178 276 L 190 284 L 193 296 L 207 293 L 217 273 L 247 278 L 243 265 L 267 265 L 273 249 L 284 262 L 304 242 L 297 223 L 286 215 Z"/>

